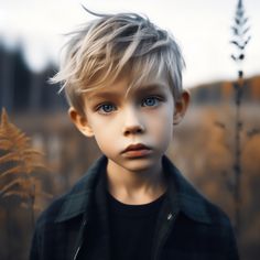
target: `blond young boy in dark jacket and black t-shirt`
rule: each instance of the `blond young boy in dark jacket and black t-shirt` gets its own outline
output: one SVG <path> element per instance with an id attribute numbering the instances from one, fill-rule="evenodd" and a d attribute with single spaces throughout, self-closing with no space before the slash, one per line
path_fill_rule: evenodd
<path id="1" fill-rule="evenodd" d="M 54 80 L 104 156 L 42 214 L 31 259 L 238 259 L 228 217 L 164 155 L 189 101 L 183 65 L 173 36 L 134 13 L 73 33 Z"/>

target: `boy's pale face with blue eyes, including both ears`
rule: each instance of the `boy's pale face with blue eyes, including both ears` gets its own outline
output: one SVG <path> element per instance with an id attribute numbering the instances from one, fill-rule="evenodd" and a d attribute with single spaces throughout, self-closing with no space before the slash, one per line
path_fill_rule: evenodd
<path id="1" fill-rule="evenodd" d="M 85 98 L 85 115 L 74 108 L 69 115 L 87 137 L 95 137 L 99 149 L 113 166 L 131 172 L 159 166 L 188 104 L 183 93 L 174 105 L 166 77 L 150 77 L 128 95 L 124 76 L 112 85 L 94 90 Z"/>

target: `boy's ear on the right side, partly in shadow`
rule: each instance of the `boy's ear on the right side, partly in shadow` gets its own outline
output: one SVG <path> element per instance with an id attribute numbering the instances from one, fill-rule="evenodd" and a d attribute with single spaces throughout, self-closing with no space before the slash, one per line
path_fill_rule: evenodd
<path id="1" fill-rule="evenodd" d="M 187 110 L 187 107 L 189 104 L 189 98 L 191 98 L 189 91 L 183 90 L 181 97 L 177 100 L 175 100 L 175 111 L 174 111 L 174 116 L 173 116 L 173 124 L 178 124 L 182 121 L 182 119 Z"/>

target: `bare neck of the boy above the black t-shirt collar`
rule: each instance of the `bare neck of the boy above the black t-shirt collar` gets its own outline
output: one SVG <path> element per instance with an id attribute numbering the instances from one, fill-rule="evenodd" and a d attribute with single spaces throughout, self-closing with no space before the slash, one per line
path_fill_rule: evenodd
<path id="1" fill-rule="evenodd" d="M 129 171 L 109 160 L 107 177 L 109 193 L 124 204 L 151 203 L 166 189 L 161 162 L 143 171 Z"/>

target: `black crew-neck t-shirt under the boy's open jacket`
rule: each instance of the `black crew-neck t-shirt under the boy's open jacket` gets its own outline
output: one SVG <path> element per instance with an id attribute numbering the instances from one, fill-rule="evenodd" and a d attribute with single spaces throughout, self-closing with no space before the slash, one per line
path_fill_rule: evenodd
<path id="1" fill-rule="evenodd" d="M 108 193 L 108 213 L 112 260 L 151 258 L 158 214 L 164 195 L 143 205 L 126 205 Z"/>

